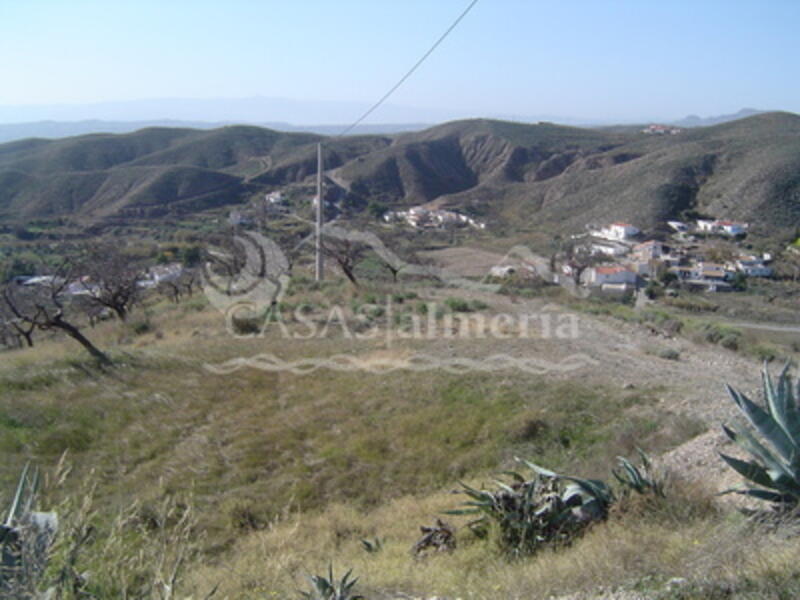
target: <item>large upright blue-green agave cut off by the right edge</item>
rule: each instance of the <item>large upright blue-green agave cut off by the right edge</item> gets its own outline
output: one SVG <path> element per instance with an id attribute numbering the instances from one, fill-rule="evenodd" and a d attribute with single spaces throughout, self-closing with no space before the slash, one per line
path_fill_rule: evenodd
<path id="1" fill-rule="evenodd" d="M 800 502 L 800 407 L 797 403 L 800 387 L 793 387 L 788 368 L 788 364 L 784 366 L 774 382 L 764 365 L 761 379 L 766 407 L 727 386 L 731 398 L 763 442 L 750 428 L 734 429 L 723 425 L 725 434 L 752 460 L 740 460 L 727 454 L 720 456 L 748 481 L 744 489 L 728 492 L 794 508 Z"/>

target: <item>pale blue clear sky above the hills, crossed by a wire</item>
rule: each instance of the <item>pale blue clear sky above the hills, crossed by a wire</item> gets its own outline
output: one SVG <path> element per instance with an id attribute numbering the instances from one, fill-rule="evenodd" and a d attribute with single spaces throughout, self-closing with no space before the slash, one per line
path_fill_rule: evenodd
<path id="1" fill-rule="evenodd" d="M 0 121 L 66 114 L 55 105 L 91 118 L 86 105 L 105 114 L 98 103 L 255 97 L 287 99 L 296 123 L 321 122 L 326 106 L 328 122 L 354 120 L 468 4 L 0 0 Z M 479 0 L 368 122 L 800 112 L 799 23 L 797 0 Z M 150 102 L 147 114 L 198 118 L 182 106 Z"/>

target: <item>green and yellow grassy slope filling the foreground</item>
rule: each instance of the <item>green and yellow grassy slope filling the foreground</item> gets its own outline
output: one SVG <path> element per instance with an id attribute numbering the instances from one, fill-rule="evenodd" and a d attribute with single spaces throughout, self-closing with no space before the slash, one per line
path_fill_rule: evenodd
<path id="1" fill-rule="evenodd" d="M 286 303 L 323 310 L 385 291 L 305 282 Z M 408 292 L 408 311 L 438 293 Z M 515 456 L 608 479 L 617 455 L 637 446 L 659 455 L 702 433 L 703 423 L 664 405 L 660 383 L 512 371 L 217 375 L 205 365 L 265 351 L 301 358 L 309 347 L 275 328 L 233 338 L 200 297 L 155 301 L 127 326 L 87 332 L 110 350 L 113 368 L 100 370 L 58 338 L 4 353 L 0 480 L 8 498 L 32 460 L 49 474 L 43 501 L 60 507 L 65 530 L 93 524 L 78 567 L 95 574 L 97 597 L 122 597 L 125 585 L 155 577 L 157 560 L 138 553 L 152 552 L 162 533 L 170 541 L 159 548 L 185 544 L 189 552 L 179 597 L 204 598 L 217 586 L 216 597 L 291 597 L 331 562 L 337 573 L 353 568 L 371 599 L 548 598 L 599 588 L 789 598 L 800 586 L 791 538 L 721 508 L 713 490 L 679 474 L 666 500 L 621 502 L 558 551 L 511 561 L 465 518 L 444 517 L 457 528 L 456 551 L 412 556 L 419 527 L 463 502 L 453 494 L 459 481 L 491 485 Z M 380 360 L 402 358 L 414 343 L 333 336 L 314 352 Z M 436 349 L 481 352 L 474 339 Z M 65 452 L 71 473 L 57 485 Z M 91 508 L 81 508 L 89 496 Z M 191 521 L 175 517 L 189 508 Z M 365 538 L 382 540 L 381 550 L 366 552 Z M 676 577 L 685 581 L 670 584 Z"/>

